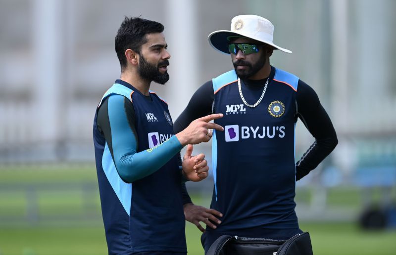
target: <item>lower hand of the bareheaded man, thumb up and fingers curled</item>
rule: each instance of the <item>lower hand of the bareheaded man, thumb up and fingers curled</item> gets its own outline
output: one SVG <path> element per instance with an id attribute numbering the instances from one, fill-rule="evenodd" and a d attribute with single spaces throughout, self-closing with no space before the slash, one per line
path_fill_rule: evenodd
<path id="1" fill-rule="evenodd" d="M 186 154 L 183 157 L 182 169 L 187 179 L 191 181 L 200 181 L 207 177 L 209 167 L 205 160 L 205 154 L 192 156 L 193 145 L 187 145 Z"/>

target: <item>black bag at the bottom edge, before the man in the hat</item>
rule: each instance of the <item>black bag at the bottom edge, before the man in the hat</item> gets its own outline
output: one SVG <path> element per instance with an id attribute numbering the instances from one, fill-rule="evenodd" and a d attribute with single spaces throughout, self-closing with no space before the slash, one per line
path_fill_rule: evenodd
<path id="1" fill-rule="evenodd" d="M 272 240 L 222 235 L 206 255 L 313 255 L 308 232 L 289 240 Z"/>

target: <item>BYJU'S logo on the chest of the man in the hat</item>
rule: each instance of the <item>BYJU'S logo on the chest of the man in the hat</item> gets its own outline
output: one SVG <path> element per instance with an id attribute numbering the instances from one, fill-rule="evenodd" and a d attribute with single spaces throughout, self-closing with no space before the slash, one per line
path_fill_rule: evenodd
<path id="1" fill-rule="evenodd" d="M 284 126 L 273 126 L 273 127 L 239 127 L 239 125 L 229 125 L 225 126 L 225 138 L 226 142 L 236 142 L 240 139 L 248 138 L 274 138 L 285 137 L 285 127 Z"/>

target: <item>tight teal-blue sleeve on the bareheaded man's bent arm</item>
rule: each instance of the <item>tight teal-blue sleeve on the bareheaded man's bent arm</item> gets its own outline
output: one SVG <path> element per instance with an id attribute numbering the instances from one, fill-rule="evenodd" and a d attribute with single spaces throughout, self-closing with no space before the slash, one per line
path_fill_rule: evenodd
<path id="1" fill-rule="evenodd" d="M 111 95 L 107 111 L 114 164 L 118 174 L 127 182 L 134 182 L 160 169 L 183 148 L 174 135 L 159 146 L 137 152 L 137 137 L 127 119 L 124 96 Z"/>

